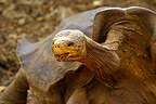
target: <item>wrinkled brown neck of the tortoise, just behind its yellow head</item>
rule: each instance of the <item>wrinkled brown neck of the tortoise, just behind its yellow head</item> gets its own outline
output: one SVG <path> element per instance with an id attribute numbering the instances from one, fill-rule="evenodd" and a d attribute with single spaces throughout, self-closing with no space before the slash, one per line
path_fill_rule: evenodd
<path id="1" fill-rule="evenodd" d="M 86 52 L 87 54 L 82 63 L 98 75 L 96 77 L 100 81 L 113 86 L 115 78 L 112 75 L 119 66 L 117 54 L 88 37 L 86 37 Z"/>

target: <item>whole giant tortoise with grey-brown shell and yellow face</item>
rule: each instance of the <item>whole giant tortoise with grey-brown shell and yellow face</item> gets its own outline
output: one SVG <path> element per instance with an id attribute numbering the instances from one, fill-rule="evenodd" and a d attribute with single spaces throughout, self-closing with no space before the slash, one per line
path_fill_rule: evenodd
<path id="1" fill-rule="evenodd" d="M 99 8 L 64 20 L 40 42 L 21 40 L 22 67 L 0 104 L 25 104 L 28 89 L 39 104 L 155 104 L 155 14 L 140 6 Z M 86 52 L 86 40 L 100 52 Z M 60 50 L 66 47 L 69 50 Z M 92 51 L 98 53 L 88 61 Z M 74 60 L 66 60 L 69 54 Z"/>

